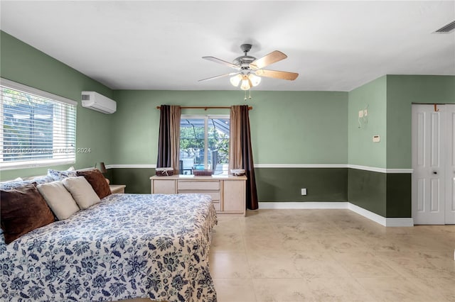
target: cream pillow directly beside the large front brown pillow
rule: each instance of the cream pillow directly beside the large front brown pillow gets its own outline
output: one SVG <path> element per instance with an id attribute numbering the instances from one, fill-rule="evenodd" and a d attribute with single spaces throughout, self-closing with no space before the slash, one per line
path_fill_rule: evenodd
<path id="1" fill-rule="evenodd" d="M 49 208 L 53 211 L 58 220 L 70 218 L 74 213 L 79 211 L 76 201 L 70 192 L 65 189 L 62 181 L 53 181 L 47 184 L 38 184 L 38 191 L 48 203 Z"/>

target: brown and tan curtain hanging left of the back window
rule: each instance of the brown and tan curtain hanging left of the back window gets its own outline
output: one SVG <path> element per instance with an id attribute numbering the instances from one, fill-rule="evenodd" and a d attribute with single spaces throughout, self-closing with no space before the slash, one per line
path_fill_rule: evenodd
<path id="1" fill-rule="evenodd" d="M 179 169 L 180 117 L 180 106 L 161 105 L 156 167 L 172 167 L 174 174 Z"/>

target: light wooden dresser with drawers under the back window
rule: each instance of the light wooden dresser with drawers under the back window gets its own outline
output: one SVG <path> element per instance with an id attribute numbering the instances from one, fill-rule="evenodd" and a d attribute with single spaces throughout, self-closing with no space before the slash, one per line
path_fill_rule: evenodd
<path id="1" fill-rule="evenodd" d="M 152 194 L 208 194 L 217 213 L 245 216 L 245 176 L 174 175 L 150 179 Z"/>

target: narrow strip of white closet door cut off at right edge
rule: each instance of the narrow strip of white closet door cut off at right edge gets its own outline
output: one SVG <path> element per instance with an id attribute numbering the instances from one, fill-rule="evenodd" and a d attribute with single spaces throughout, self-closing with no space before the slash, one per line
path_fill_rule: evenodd
<path id="1" fill-rule="evenodd" d="M 446 224 L 455 224 L 455 105 L 446 106 Z"/>

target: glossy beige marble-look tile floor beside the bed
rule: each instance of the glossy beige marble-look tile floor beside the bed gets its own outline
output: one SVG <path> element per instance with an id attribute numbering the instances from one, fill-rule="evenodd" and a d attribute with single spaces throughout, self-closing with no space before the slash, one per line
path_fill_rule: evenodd
<path id="1" fill-rule="evenodd" d="M 455 301 L 455 225 L 385 228 L 349 210 L 218 216 L 218 301 Z"/>

